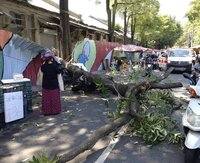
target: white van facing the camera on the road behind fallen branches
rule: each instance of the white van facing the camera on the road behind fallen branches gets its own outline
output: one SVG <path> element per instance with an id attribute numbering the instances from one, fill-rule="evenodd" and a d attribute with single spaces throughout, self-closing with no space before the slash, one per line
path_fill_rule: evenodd
<path id="1" fill-rule="evenodd" d="M 170 49 L 167 57 L 167 69 L 173 67 L 175 71 L 192 71 L 191 49 Z"/>

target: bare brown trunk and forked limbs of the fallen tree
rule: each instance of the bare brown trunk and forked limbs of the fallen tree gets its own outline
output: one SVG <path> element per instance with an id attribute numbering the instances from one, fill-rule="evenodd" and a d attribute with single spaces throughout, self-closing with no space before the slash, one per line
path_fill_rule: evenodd
<path id="1" fill-rule="evenodd" d="M 103 75 L 103 74 L 86 72 L 72 64 L 69 64 L 67 69 L 70 73 L 76 75 L 76 77 L 84 75 L 90 81 L 100 80 L 110 91 L 117 94 L 122 99 L 124 98 L 131 100 L 129 102 L 126 111 L 118 119 L 114 120 L 110 124 L 102 126 L 98 130 L 96 130 L 90 136 L 90 138 L 88 138 L 81 144 L 75 146 L 74 148 L 70 149 L 70 151 L 60 155 L 58 157 L 59 163 L 70 161 L 80 153 L 91 149 L 100 138 L 110 134 L 119 127 L 129 123 L 132 119 L 137 119 L 139 121 L 141 117 L 137 114 L 137 112 L 140 100 L 139 95 L 141 93 L 144 93 L 145 91 L 150 89 L 170 89 L 170 88 L 182 87 L 181 83 L 165 83 L 165 84 L 160 83 L 162 80 L 164 80 L 169 76 L 169 74 L 173 71 L 173 68 L 168 69 L 162 76 L 154 80 L 149 80 L 149 78 L 144 78 L 144 80 L 140 81 L 138 84 L 117 83 L 110 76 L 107 76 L 105 74 Z M 180 104 L 176 105 L 174 109 L 177 109 L 177 107 L 180 107 Z"/>

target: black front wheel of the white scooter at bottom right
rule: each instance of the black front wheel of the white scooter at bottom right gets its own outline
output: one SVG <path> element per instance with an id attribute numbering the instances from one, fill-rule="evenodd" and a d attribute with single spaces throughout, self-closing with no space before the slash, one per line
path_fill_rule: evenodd
<path id="1" fill-rule="evenodd" d="M 184 152 L 185 152 L 185 163 L 196 163 L 198 159 L 198 149 L 189 149 L 186 146 L 184 146 Z"/>

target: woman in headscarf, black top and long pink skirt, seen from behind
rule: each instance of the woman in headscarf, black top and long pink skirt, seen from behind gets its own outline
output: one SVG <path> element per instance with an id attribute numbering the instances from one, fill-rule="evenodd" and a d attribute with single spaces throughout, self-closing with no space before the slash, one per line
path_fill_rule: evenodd
<path id="1" fill-rule="evenodd" d="M 46 52 L 41 66 L 42 78 L 42 114 L 54 115 L 61 112 L 60 89 L 58 74 L 61 73 L 57 64 L 54 63 L 54 54 Z"/>

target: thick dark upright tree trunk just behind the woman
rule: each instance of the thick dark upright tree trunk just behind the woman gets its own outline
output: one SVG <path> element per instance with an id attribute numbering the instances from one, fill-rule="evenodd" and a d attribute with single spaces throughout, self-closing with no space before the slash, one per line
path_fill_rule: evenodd
<path id="1" fill-rule="evenodd" d="M 62 27 L 62 57 L 64 60 L 69 61 L 71 58 L 71 38 L 68 0 L 60 0 L 60 24 Z"/>

